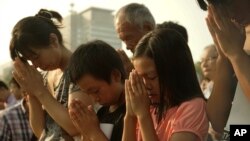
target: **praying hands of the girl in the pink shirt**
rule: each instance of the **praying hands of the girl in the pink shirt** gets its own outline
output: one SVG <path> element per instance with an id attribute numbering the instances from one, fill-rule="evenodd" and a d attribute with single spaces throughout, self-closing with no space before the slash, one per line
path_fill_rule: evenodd
<path id="1" fill-rule="evenodd" d="M 137 118 L 150 115 L 150 100 L 143 80 L 135 70 L 129 75 L 129 81 L 126 84 L 126 91 L 126 95 L 129 95 L 128 101 L 130 102 L 129 104 L 133 114 Z"/>

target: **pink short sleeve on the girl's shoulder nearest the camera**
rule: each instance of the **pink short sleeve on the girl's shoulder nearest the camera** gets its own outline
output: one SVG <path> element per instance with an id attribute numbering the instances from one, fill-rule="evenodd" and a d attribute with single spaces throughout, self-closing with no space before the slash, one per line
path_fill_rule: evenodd
<path id="1" fill-rule="evenodd" d="M 195 98 L 178 107 L 172 134 L 191 132 L 198 136 L 199 141 L 203 141 L 207 137 L 208 123 L 205 101 L 202 98 Z"/>

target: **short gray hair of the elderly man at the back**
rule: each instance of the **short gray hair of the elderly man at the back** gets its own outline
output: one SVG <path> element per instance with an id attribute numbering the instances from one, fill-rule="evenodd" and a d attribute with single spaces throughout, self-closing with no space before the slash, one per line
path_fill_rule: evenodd
<path id="1" fill-rule="evenodd" d="M 130 3 L 121 7 L 115 14 L 115 22 L 121 16 L 125 16 L 127 22 L 136 24 L 141 28 L 145 23 L 148 23 L 152 28 L 155 28 L 155 20 L 150 10 L 143 4 Z"/>

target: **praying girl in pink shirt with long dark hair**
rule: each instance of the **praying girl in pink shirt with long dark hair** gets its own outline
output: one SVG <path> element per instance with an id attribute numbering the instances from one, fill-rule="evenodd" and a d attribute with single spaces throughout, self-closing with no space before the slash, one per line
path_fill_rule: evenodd
<path id="1" fill-rule="evenodd" d="M 123 141 L 205 141 L 208 119 L 191 52 L 179 33 L 159 29 L 138 43 L 125 81 Z"/>

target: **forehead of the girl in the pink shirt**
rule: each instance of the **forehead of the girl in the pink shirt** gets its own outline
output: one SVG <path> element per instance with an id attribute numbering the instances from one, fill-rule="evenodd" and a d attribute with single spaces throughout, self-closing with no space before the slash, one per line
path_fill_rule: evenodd
<path id="1" fill-rule="evenodd" d="M 139 74 L 156 72 L 155 63 L 151 58 L 138 57 L 133 60 L 133 64 Z"/>

